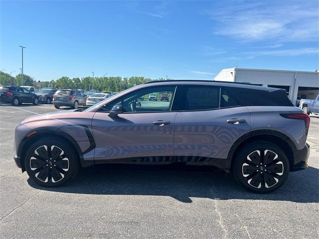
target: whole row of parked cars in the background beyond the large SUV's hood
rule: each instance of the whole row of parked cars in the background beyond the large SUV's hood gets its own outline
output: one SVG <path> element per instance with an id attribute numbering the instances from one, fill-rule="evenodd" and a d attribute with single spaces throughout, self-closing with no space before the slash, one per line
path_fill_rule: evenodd
<path id="1" fill-rule="evenodd" d="M 113 92 L 86 92 L 80 89 L 57 89 L 42 88 L 35 91 L 33 87 L 28 86 L 0 86 L 0 103 L 12 104 L 14 106 L 22 103 L 53 103 L 56 109 L 61 106 L 72 107 L 77 109 L 79 106 L 92 106 L 111 96 Z"/>

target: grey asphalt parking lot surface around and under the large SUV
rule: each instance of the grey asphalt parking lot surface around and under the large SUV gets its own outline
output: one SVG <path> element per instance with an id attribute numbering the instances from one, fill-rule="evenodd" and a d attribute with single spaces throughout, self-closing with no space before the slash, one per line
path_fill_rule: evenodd
<path id="1" fill-rule="evenodd" d="M 0 106 L 0 238 L 319 237 L 319 116 L 311 115 L 310 167 L 258 195 L 205 168 L 111 167 L 39 187 L 14 164 L 14 128 L 52 111 Z"/>

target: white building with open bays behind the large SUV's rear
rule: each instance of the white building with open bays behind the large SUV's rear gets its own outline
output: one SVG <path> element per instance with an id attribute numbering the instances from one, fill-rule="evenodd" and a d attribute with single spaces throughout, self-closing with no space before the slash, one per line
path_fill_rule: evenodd
<path id="1" fill-rule="evenodd" d="M 215 81 L 250 83 L 286 89 L 289 99 L 315 99 L 319 94 L 319 72 L 229 68 L 221 70 Z M 299 98 L 298 98 L 299 99 Z"/>

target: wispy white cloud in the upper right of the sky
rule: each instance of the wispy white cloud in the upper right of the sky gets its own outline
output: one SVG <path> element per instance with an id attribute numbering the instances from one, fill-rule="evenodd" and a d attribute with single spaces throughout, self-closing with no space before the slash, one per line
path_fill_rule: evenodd
<path id="1" fill-rule="evenodd" d="M 319 39 L 317 0 L 228 3 L 205 12 L 217 23 L 215 34 L 245 41 L 275 40 L 277 43 Z"/>

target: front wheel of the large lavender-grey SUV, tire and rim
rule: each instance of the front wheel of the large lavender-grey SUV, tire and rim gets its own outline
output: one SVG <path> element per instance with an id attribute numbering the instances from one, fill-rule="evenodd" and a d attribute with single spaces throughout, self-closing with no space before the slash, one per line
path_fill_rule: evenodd
<path id="1" fill-rule="evenodd" d="M 76 151 L 67 141 L 45 137 L 35 141 L 25 153 L 24 165 L 38 185 L 57 187 L 70 181 L 80 168 Z"/>

